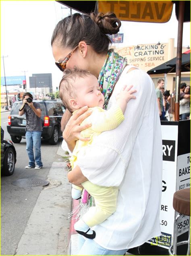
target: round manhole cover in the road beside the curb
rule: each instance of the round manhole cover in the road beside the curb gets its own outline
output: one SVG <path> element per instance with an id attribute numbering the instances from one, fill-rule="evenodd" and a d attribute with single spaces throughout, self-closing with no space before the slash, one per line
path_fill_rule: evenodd
<path id="1" fill-rule="evenodd" d="M 47 186 L 49 181 L 43 179 L 29 178 L 29 179 L 21 179 L 15 180 L 11 183 L 14 186 L 18 186 L 21 188 L 30 188 L 30 187 L 38 187 L 38 186 Z"/>

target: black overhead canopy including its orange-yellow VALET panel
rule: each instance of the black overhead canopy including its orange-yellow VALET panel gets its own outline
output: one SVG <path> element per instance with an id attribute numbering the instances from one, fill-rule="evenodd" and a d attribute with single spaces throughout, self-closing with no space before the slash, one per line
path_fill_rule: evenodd
<path id="1" fill-rule="evenodd" d="M 180 1 L 56 1 L 81 13 L 114 12 L 121 21 L 164 23 L 175 4 L 176 19 Z M 183 22 L 190 21 L 190 1 L 185 1 Z"/>

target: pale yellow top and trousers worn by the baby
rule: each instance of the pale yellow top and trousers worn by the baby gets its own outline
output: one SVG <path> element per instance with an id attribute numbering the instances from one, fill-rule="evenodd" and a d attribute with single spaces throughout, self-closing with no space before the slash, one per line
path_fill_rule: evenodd
<path id="1" fill-rule="evenodd" d="M 91 145 L 96 136 L 103 131 L 115 129 L 124 120 L 122 110 L 117 104 L 113 104 L 109 110 L 103 110 L 100 107 L 89 109 L 93 112 L 81 123 L 81 125 L 91 123 L 92 126 L 81 131 L 81 136 L 83 136 L 83 138 L 89 137 L 90 140 L 87 142 L 77 140 L 73 154 L 69 159 L 72 169 L 77 165 L 79 151 L 80 153 L 85 154 L 86 150 L 88 150 L 88 146 Z M 83 150 L 83 152 L 81 152 L 81 150 Z M 95 207 L 90 207 L 88 212 L 82 217 L 82 220 L 88 226 L 92 227 L 102 223 L 116 211 L 118 187 L 98 186 L 91 183 L 89 180 L 83 182 L 82 186 L 92 197 L 94 197 L 96 205 Z M 82 190 L 82 188 L 75 185 L 73 185 L 73 188 Z"/>

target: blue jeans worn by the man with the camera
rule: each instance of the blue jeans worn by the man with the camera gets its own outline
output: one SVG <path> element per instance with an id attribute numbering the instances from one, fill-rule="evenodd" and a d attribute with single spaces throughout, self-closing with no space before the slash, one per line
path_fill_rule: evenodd
<path id="1" fill-rule="evenodd" d="M 27 141 L 27 153 L 29 156 L 29 165 L 35 166 L 35 162 L 38 166 L 42 167 L 41 161 L 41 133 L 42 131 L 27 131 L 26 132 L 26 141 Z M 35 158 L 33 153 L 33 147 L 35 150 Z"/>

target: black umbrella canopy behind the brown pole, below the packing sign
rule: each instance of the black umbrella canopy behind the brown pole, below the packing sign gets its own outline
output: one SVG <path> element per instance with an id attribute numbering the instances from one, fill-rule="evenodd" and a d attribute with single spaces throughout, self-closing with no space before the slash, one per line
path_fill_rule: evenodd
<path id="1" fill-rule="evenodd" d="M 189 71 L 190 71 L 190 53 L 188 54 L 183 53 L 181 72 L 189 72 Z M 147 71 L 147 74 L 149 75 L 168 74 L 168 73 L 176 73 L 176 57 Z"/>

